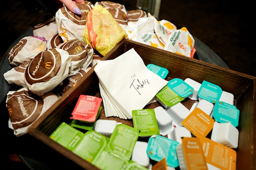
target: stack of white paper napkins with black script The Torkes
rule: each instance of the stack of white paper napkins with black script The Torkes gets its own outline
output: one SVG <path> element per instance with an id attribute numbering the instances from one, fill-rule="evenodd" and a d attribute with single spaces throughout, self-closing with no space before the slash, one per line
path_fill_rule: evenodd
<path id="1" fill-rule="evenodd" d="M 100 60 L 94 71 L 106 117 L 132 119 L 132 110 L 143 109 L 168 83 L 148 70 L 134 48 L 115 59 Z"/>

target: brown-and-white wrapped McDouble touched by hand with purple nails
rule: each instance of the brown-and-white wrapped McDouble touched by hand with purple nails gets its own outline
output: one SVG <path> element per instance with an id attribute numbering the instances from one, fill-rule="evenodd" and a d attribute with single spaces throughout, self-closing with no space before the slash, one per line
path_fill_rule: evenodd
<path id="1" fill-rule="evenodd" d="M 81 15 L 71 12 L 66 6 L 59 8 L 55 14 L 58 33 L 64 42 L 73 39 L 83 40 L 86 17 L 92 6 L 87 3 L 76 5 L 81 10 Z"/>

